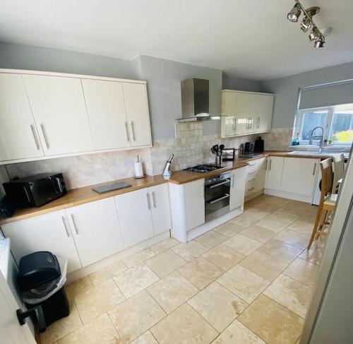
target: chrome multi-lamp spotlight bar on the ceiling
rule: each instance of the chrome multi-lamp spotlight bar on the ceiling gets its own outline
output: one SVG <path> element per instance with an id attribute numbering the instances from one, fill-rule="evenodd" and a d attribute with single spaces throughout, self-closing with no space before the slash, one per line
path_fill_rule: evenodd
<path id="1" fill-rule="evenodd" d="M 301 11 L 303 11 L 304 14 L 304 18 L 303 20 L 301 20 L 300 23 L 301 31 L 307 32 L 308 30 L 311 30 L 309 40 L 315 40 L 315 43 L 313 45 L 314 47 L 322 48 L 325 44 L 325 36 L 323 35 L 323 32 L 321 32 L 316 26 L 316 24 L 313 22 L 313 16 L 315 16 L 316 13 L 320 11 L 320 7 L 313 6 L 305 9 L 304 6 L 301 5 L 299 0 L 295 0 L 294 7 L 287 14 L 287 18 L 295 23 L 301 16 Z"/>

